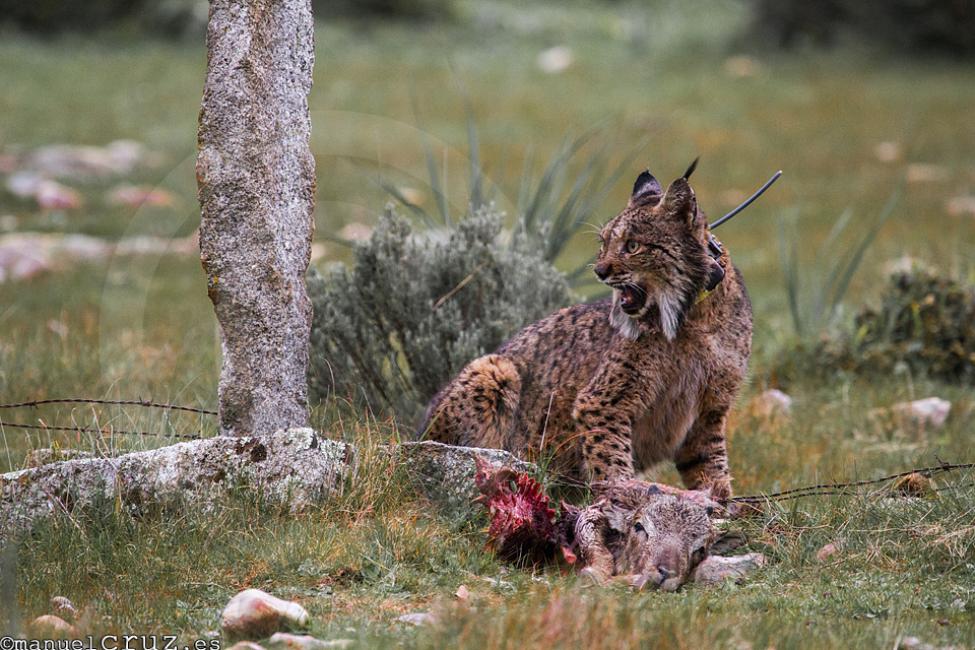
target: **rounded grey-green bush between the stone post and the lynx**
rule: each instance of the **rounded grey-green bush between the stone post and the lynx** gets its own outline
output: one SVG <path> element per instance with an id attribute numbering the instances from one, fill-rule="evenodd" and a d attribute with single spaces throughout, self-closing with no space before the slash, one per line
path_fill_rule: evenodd
<path id="1" fill-rule="evenodd" d="M 391 208 L 351 267 L 309 274 L 309 387 L 411 421 L 472 359 L 570 301 L 566 278 L 524 232 L 481 207 L 415 232 Z"/>

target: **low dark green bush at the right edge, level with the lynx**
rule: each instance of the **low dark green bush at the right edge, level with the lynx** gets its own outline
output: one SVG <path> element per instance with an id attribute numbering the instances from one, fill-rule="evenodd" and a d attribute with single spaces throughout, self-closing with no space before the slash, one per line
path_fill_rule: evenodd
<path id="1" fill-rule="evenodd" d="M 789 351 L 779 370 L 788 379 L 900 368 L 975 385 L 975 286 L 924 269 L 894 273 L 878 307 L 862 308 L 846 332 Z"/>

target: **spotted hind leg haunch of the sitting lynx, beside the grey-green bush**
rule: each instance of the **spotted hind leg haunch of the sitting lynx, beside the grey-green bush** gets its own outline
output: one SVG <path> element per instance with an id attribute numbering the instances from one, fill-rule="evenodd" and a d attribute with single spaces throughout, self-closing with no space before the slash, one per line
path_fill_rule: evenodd
<path id="1" fill-rule="evenodd" d="M 521 393 L 515 365 L 498 354 L 467 364 L 427 420 L 427 438 L 452 445 L 504 449 Z"/>

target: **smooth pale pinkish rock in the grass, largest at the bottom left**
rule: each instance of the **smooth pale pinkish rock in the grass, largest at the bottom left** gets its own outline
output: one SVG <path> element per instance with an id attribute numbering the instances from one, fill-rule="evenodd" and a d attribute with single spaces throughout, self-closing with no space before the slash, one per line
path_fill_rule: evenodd
<path id="1" fill-rule="evenodd" d="M 307 624 L 308 612 L 304 607 L 260 589 L 240 592 L 230 599 L 220 615 L 220 629 L 229 639 L 263 639 L 280 630 Z"/>

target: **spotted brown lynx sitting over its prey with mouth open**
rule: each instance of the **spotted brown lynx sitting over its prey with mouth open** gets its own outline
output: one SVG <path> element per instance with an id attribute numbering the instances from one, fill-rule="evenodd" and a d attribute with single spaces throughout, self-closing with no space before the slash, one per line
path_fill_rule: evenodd
<path id="1" fill-rule="evenodd" d="M 594 271 L 610 298 L 557 311 L 472 361 L 433 398 L 421 433 L 548 457 L 583 481 L 669 459 L 688 488 L 727 500 L 751 304 L 698 207 L 694 166 L 666 191 L 640 174 L 600 231 Z"/>

